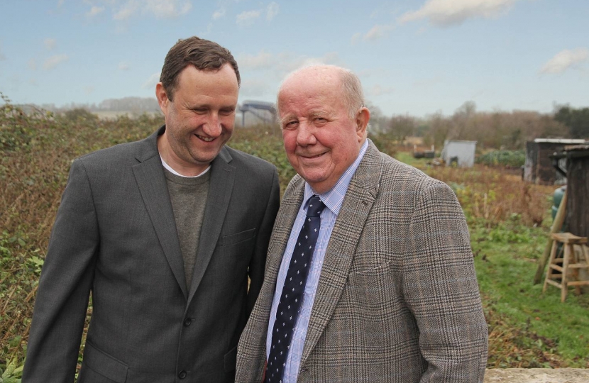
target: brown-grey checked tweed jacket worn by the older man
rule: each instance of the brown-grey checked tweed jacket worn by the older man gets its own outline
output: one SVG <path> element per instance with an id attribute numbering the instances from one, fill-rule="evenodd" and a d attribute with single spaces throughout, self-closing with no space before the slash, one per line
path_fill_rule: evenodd
<path id="1" fill-rule="evenodd" d="M 282 253 L 304 179 L 285 191 L 236 383 L 260 383 Z M 488 333 L 451 189 L 370 143 L 331 233 L 297 382 L 483 382 Z"/>

